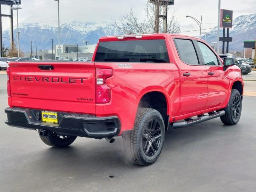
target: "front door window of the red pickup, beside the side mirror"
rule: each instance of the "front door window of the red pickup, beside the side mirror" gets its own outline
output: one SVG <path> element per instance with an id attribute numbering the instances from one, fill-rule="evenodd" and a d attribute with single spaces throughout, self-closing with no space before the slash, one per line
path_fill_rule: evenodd
<path id="1" fill-rule="evenodd" d="M 217 56 L 206 46 L 206 44 L 203 44 L 198 41 L 199 48 L 202 52 L 202 56 L 204 58 L 204 63 L 206 65 L 218 65 L 218 59 Z"/>

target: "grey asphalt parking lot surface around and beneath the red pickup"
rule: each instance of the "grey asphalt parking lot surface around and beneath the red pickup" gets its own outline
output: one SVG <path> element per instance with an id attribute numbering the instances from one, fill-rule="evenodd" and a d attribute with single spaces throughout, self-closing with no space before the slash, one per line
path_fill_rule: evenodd
<path id="1" fill-rule="evenodd" d="M 244 96 L 235 126 L 217 118 L 170 129 L 158 161 L 142 167 L 126 161 L 120 137 L 113 144 L 77 138 L 58 149 L 36 131 L 8 127 L 6 75 L 0 82 L 1 192 L 256 191 L 256 97 Z"/>

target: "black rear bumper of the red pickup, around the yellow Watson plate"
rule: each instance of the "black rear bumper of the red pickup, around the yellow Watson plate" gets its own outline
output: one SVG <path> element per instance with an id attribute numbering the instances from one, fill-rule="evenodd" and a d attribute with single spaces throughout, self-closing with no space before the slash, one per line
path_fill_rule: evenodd
<path id="1" fill-rule="evenodd" d="M 117 136 L 121 124 L 117 116 L 96 117 L 84 114 L 58 112 L 59 124 L 40 122 L 40 110 L 22 108 L 6 108 L 6 124 L 13 127 L 48 130 L 60 135 L 89 138 L 105 138 Z M 40 116 L 40 115 L 39 115 Z"/>

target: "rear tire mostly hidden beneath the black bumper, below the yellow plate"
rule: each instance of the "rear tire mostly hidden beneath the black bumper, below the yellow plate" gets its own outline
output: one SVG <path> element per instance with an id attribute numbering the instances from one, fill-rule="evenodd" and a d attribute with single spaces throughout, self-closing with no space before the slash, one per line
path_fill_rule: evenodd
<path id="1" fill-rule="evenodd" d="M 40 135 L 39 135 L 40 136 Z M 57 136 L 57 135 L 48 135 L 40 136 L 40 139 L 51 147 L 64 148 L 69 146 L 76 140 L 75 136 Z"/>

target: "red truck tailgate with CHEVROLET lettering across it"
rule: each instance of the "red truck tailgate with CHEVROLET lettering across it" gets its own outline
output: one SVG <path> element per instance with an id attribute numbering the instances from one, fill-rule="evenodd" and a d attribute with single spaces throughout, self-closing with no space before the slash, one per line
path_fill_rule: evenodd
<path id="1" fill-rule="evenodd" d="M 94 62 L 10 62 L 9 66 L 10 106 L 95 114 Z"/>

